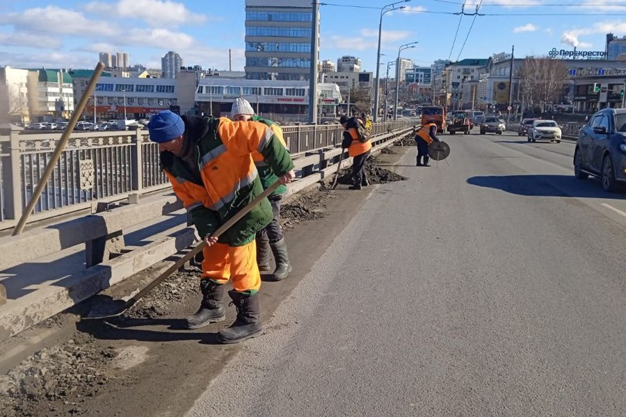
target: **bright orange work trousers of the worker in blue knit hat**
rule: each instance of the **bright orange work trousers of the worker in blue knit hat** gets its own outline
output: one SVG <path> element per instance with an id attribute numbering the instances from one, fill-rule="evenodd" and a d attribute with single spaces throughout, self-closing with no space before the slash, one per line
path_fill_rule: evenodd
<path id="1" fill-rule="evenodd" d="M 257 293 L 261 288 L 257 243 L 254 239 L 243 246 L 216 243 L 211 247 L 204 247 L 203 253 L 202 278 L 209 278 L 218 284 L 226 284 L 232 279 L 234 291 L 248 295 Z"/>

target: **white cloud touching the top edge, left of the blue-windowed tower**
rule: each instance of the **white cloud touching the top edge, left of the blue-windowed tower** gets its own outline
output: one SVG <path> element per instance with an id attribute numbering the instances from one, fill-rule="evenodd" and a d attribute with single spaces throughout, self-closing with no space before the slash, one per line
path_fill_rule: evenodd
<path id="1" fill-rule="evenodd" d="M 85 9 L 103 16 L 142 19 L 150 26 L 201 24 L 207 17 L 191 12 L 182 3 L 170 0 L 118 0 L 116 3 L 93 1 Z"/>

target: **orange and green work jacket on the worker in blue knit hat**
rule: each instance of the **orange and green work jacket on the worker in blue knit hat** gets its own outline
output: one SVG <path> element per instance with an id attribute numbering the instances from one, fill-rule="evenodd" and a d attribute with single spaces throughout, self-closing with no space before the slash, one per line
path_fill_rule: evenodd
<path id="1" fill-rule="evenodd" d="M 161 165 L 202 237 L 263 193 L 253 152 L 262 154 L 278 176 L 294 169 L 289 153 L 265 124 L 232 122 L 226 117 L 183 116 L 183 120 L 188 153 L 178 157 L 161 152 Z M 247 245 L 272 218 L 271 205 L 263 199 L 218 241 Z"/>

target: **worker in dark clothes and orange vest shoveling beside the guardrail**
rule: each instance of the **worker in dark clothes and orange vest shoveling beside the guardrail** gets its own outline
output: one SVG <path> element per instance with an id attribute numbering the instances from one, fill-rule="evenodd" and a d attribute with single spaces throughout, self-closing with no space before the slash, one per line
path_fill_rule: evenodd
<path id="1" fill-rule="evenodd" d="M 371 141 L 360 136 L 359 130 L 364 131 L 364 124 L 357 117 L 342 116 L 339 123 L 344 126 L 344 140 L 342 149 L 348 149 L 348 156 L 352 159 L 352 180 L 351 190 L 360 190 L 369 186 L 367 175 L 365 174 L 365 160 L 369 156 Z"/>

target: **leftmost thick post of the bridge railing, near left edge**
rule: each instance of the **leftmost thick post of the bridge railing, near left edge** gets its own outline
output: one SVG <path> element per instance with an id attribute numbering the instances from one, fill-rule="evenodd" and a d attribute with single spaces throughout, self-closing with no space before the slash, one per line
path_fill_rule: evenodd
<path id="1" fill-rule="evenodd" d="M 22 178 L 19 175 L 19 134 L 9 134 L 9 157 L 2 163 L 2 179 L 4 187 L 4 205 L 7 220 L 22 217 Z"/>

